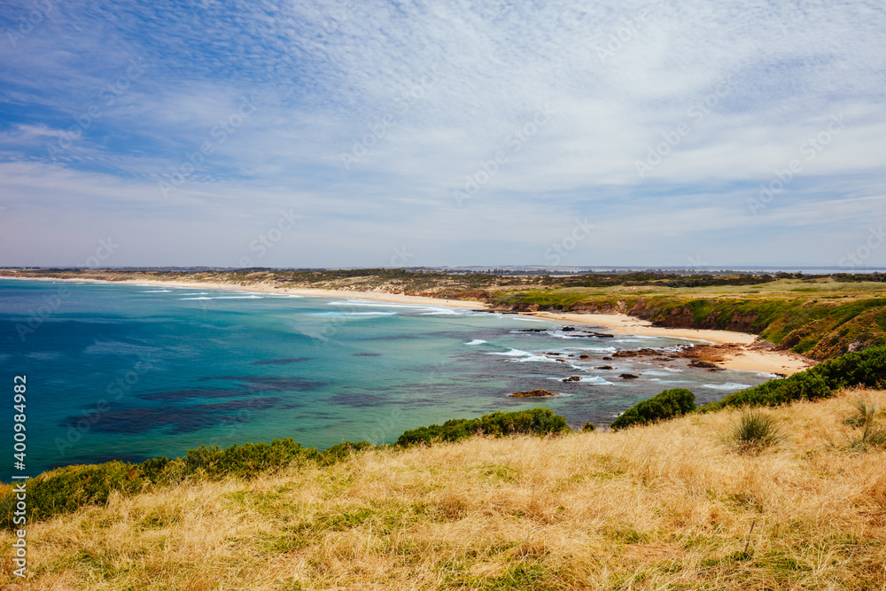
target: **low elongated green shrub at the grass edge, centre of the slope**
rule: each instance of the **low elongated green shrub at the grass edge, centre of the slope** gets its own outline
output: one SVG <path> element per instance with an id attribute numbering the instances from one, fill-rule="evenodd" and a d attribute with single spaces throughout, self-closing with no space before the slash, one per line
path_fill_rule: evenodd
<path id="1" fill-rule="evenodd" d="M 471 435 L 512 435 L 526 433 L 532 435 L 552 435 L 570 432 L 563 416 L 554 414 L 550 408 L 532 408 L 516 412 L 494 412 L 474 419 L 451 419 L 446 423 L 419 427 L 402 435 L 395 446 L 406 447 L 416 443 L 430 444 L 434 441 L 458 441 Z"/>

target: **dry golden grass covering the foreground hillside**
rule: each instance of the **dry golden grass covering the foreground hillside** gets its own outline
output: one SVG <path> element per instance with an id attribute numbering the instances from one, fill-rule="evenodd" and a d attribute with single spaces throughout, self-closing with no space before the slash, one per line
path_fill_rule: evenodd
<path id="1" fill-rule="evenodd" d="M 724 411 L 116 497 L 33 525 L 19 588 L 886 589 L 886 452 L 847 447 L 859 396 L 886 408 L 774 409 L 789 437 L 759 455 Z"/>

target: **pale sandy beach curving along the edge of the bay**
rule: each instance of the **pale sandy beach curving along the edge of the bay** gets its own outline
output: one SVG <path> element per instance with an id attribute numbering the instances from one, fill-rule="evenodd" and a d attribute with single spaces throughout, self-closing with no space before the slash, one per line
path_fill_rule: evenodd
<path id="1" fill-rule="evenodd" d="M 130 284 L 130 285 L 167 285 L 174 287 L 193 287 L 204 289 L 219 289 L 239 292 L 261 292 L 301 296 L 314 296 L 320 298 L 350 298 L 386 301 L 398 304 L 413 304 L 424 306 L 447 306 L 472 308 L 476 310 L 490 310 L 485 302 L 463 299 L 440 299 L 425 296 L 412 296 L 403 293 L 391 292 L 346 292 L 339 290 L 323 290 L 305 287 L 284 287 L 273 284 L 249 284 L 232 285 L 206 282 L 185 281 L 157 281 L 124 279 L 123 281 L 105 281 L 103 279 L 74 279 L 52 277 L 9 277 L 4 279 L 25 279 L 33 281 L 60 281 L 67 283 L 97 283 L 97 284 Z M 511 313 L 513 314 L 513 313 Z M 619 334 L 633 334 L 649 337 L 681 338 L 688 341 L 702 342 L 714 346 L 723 361 L 719 365 L 726 369 L 741 369 L 745 371 L 758 371 L 770 374 L 782 374 L 789 376 L 798 371 L 803 371 L 815 365 L 814 360 L 807 359 L 802 355 L 787 351 L 775 351 L 763 347 L 754 346 L 757 335 L 746 332 L 733 332 L 730 330 L 702 330 L 702 329 L 679 329 L 653 326 L 649 321 L 623 314 L 578 314 L 575 312 L 519 312 L 519 315 L 544 318 L 557 323 L 579 323 L 596 328 L 612 330 Z"/>

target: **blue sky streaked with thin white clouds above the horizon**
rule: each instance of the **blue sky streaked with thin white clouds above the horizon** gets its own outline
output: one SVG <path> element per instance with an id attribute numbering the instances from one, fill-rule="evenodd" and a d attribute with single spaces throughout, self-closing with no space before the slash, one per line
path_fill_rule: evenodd
<path id="1" fill-rule="evenodd" d="M 0 4 L 0 265 L 886 267 L 877 0 Z"/>

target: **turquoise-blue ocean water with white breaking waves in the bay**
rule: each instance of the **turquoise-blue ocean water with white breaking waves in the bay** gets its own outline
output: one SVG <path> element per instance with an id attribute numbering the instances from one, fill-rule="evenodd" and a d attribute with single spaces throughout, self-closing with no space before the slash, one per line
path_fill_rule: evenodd
<path id="1" fill-rule="evenodd" d="M 203 444 L 392 442 L 421 425 L 535 406 L 573 427 L 608 424 L 666 388 L 705 402 L 772 377 L 685 360 L 604 361 L 687 341 L 573 326 L 346 297 L 0 279 L 0 478 Z M 604 365 L 613 369 L 596 369 Z M 27 376 L 24 471 L 13 469 L 15 376 Z M 580 381 L 563 383 L 571 376 Z M 563 395 L 508 397 L 534 388 Z"/>

